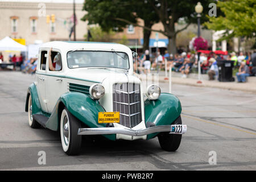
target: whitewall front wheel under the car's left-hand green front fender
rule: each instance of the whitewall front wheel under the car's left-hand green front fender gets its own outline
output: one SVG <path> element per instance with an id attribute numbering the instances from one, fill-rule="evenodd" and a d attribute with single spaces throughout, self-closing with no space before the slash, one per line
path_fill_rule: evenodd
<path id="1" fill-rule="evenodd" d="M 77 135 L 81 122 L 65 107 L 60 118 L 60 137 L 64 152 L 67 155 L 79 154 L 82 137 Z"/>

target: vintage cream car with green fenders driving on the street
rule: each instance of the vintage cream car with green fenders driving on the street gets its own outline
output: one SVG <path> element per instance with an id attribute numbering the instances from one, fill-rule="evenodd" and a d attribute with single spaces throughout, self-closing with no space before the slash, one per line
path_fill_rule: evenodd
<path id="1" fill-rule="evenodd" d="M 116 43 L 48 42 L 39 49 L 36 80 L 27 92 L 28 123 L 60 132 L 63 150 L 79 153 L 82 135 L 110 140 L 158 137 L 175 151 L 187 126 L 179 99 L 143 90 L 134 75 L 133 53 Z"/>

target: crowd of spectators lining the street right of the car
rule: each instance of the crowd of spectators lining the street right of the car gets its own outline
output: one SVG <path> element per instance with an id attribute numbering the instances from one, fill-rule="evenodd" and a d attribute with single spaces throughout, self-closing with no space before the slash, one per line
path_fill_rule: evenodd
<path id="1" fill-rule="evenodd" d="M 172 71 L 182 73 L 181 77 L 186 78 L 192 72 L 193 68 L 197 71 L 200 64 L 201 73 L 208 74 L 209 80 L 214 80 L 218 78 L 218 60 L 234 61 L 234 68 L 238 69 L 238 73 L 236 74 L 238 82 L 244 82 L 245 77 L 250 75 L 249 66 L 251 65 L 251 56 L 249 52 L 246 52 L 245 55 L 243 52 L 240 52 L 239 55 L 235 52 L 228 55 L 216 54 L 214 52 L 200 53 L 198 59 L 197 52 L 181 52 L 172 55 L 165 51 L 162 55 L 160 52 L 150 54 L 146 50 L 145 53 L 138 55 L 137 66 L 134 59 L 134 70 L 138 67 L 143 67 L 142 70 L 146 74 L 150 73 L 150 70 L 165 69 L 167 65 L 167 71 L 172 69 Z"/>

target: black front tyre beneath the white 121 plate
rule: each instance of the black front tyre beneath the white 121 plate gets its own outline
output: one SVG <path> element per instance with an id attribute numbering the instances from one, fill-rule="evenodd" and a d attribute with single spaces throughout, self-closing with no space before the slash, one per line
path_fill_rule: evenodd
<path id="1" fill-rule="evenodd" d="M 179 116 L 172 125 L 182 125 L 181 117 Z M 169 134 L 170 132 L 162 132 L 158 135 L 160 146 L 166 151 L 176 151 L 181 142 L 181 134 Z"/>

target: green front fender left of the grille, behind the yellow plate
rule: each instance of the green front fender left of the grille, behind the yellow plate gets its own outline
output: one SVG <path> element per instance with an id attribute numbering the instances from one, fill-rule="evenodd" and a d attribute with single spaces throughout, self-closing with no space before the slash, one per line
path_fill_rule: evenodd
<path id="1" fill-rule="evenodd" d="M 60 103 L 63 103 L 68 111 L 85 125 L 92 128 L 106 127 L 106 123 L 98 123 L 98 112 L 104 112 L 105 109 L 97 101 L 83 93 L 69 92 L 63 94 L 57 101 L 51 117 L 46 123 L 47 128 L 55 131 L 58 129 L 60 121 L 58 118 L 62 111 L 59 109 Z M 115 134 L 104 136 L 110 140 L 115 140 Z"/>

